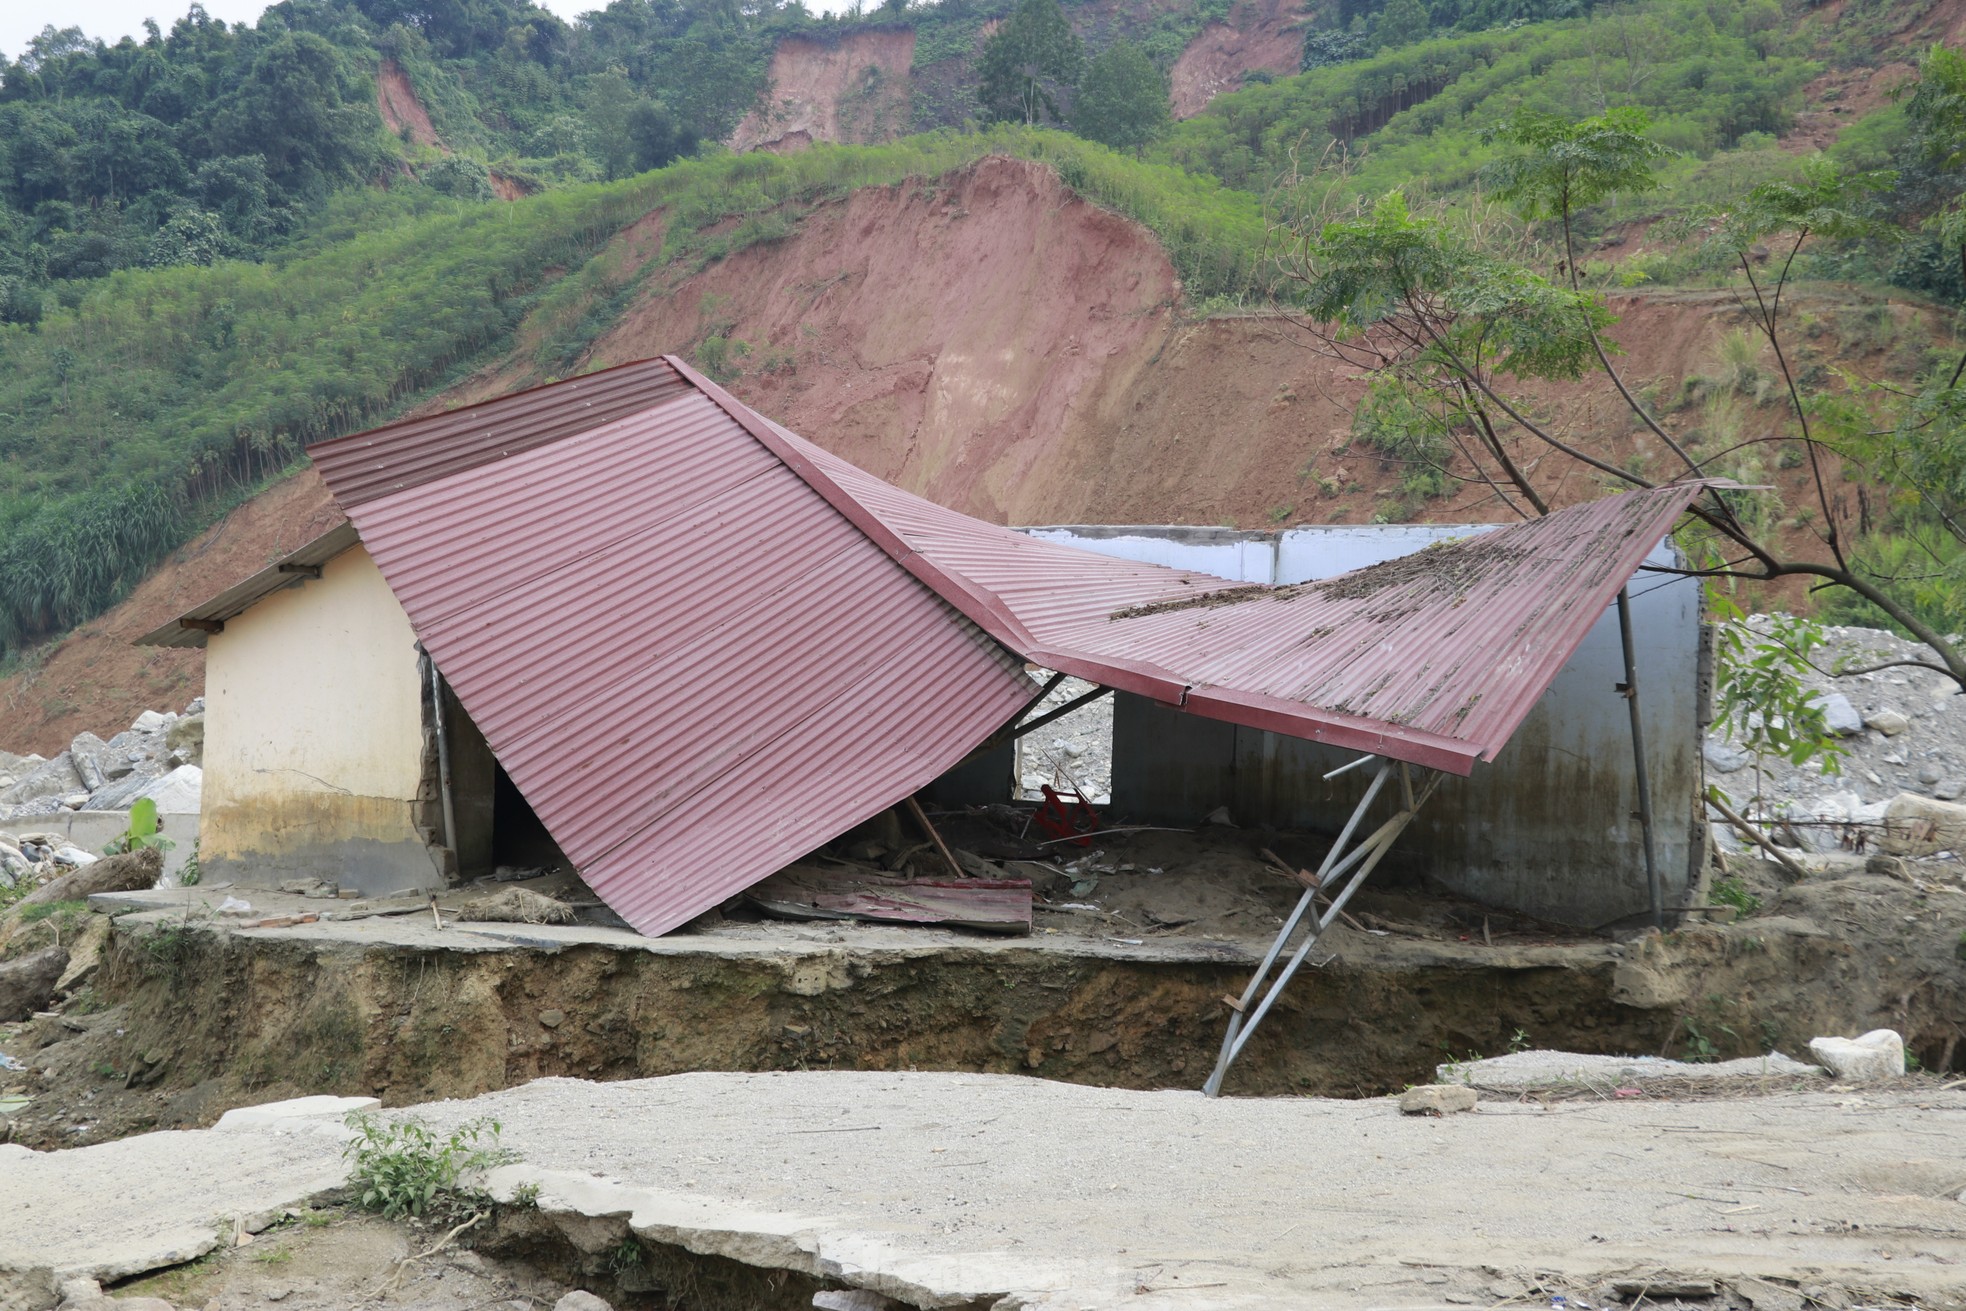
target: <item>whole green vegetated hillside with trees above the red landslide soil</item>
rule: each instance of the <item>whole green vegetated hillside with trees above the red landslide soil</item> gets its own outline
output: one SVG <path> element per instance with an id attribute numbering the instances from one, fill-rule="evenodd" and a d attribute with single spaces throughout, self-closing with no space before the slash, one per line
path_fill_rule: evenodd
<path id="1" fill-rule="evenodd" d="M 285 0 L 254 28 L 193 10 L 118 45 L 49 29 L 0 69 L 0 653 L 98 613 L 307 442 L 519 340 L 543 371 L 570 368 L 633 291 L 596 256 L 649 208 L 668 214 L 657 265 L 708 261 L 853 187 L 1007 151 L 1148 224 L 1193 307 L 1250 305 L 1274 295 L 1282 175 L 1313 173 L 1329 212 L 1394 189 L 1461 204 L 1522 110 L 1640 106 L 1671 147 L 1663 187 L 1577 214 L 1592 232 L 1795 177 L 1803 159 L 1775 138 L 1803 86 L 1905 57 L 1887 47 L 1891 8 L 1848 0 L 1819 22 L 1777 0 L 1333 0 L 1305 24 L 1305 73 L 1156 120 L 1132 151 L 1070 134 L 1070 85 L 1052 126 L 987 124 L 973 51 L 1011 0 L 843 20 L 615 0 L 578 24 L 525 0 Z M 1066 12 L 1083 67 L 1119 41 L 1146 53 L 1107 65 L 1111 118 L 1136 90 L 1111 69 L 1164 77 L 1227 4 Z M 942 71 L 914 112 L 936 132 L 792 157 L 716 145 L 782 35 L 898 24 L 916 29 L 916 67 Z M 442 147 L 383 130 L 385 71 L 413 85 Z M 1958 193 L 1929 120 L 1885 104 L 1846 128 L 1832 157 L 1895 181 L 1870 200 L 1872 230 L 1813 246 L 1803 271 L 1960 303 L 1952 246 L 1921 226 Z M 1697 254 L 1622 275 L 1716 277 Z"/>

